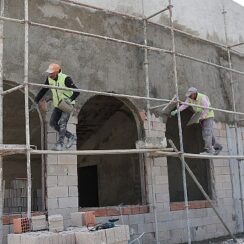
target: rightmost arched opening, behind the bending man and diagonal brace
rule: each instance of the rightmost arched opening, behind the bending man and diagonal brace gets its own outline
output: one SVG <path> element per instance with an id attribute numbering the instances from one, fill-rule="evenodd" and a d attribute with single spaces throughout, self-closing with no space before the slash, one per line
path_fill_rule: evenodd
<path id="1" fill-rule="evenodd" d="M 187 126 L 187 122 L 193 115 L 190 109 L 181 112 L 181 123 L 183 133 L 184 150 L 188 153 L 200 153 L 203 151 L 204 142 L 202 139 L 202 130 L 200 124 Z M 180 148 L 178 118 L 170 117 L 166 123 L 166 137 L 171 139 L 177 148 Z M 211 178 L 210 178 L 210 161 L 205 159 L 186 159 L 189 167 L 197 177 L 204 190 L 211 197 Z M 179 158 L 168 157 L 168 177 L 170 202 L 184 201 L 182 167 Z M 188 200 L 205 200 L 204 196 L 197 188 L 195 182 L 186 173 Z"/>

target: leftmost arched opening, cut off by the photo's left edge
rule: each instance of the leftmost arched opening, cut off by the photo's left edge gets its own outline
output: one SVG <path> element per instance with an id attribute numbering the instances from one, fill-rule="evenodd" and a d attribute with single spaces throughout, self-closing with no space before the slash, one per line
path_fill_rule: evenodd
<path id="1" fill-rule="evenodd" d="M 4 82 L 4 90 L 12 88 Z M 30 104 L 31 101 L 29 100 Z M 30 113 L 31 145 L 41 148 L 41 124 L 37 112 Z M 25 101 L 23 91 L 15 91 L 3 98 L 3 143 L 26 144 Z M 31 156 L 32 211 L 42 210 L 42 160 L 40 155 Z M 27 211 L 26 156 L 11 155 L 3 158 L 4 213 Z"/>

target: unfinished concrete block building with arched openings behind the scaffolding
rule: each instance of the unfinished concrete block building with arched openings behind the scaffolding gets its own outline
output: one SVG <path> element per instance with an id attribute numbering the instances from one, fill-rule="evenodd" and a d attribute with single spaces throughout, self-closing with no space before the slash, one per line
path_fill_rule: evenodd
<path id="1" fill-rule="evenodd" d="M 142 16 L 157 12 L 167 2 L 152 4 L 141 1 L 80 1 L 122 13 Z M 180 98 L 184 99 L 189 86 L 210 97 L 213 107 L 233 110 L 230 72 L 226 49 L 204 39 L 225 44 L 223 4 L 227 11 L 228 42 L 242 42 L 241 25 L 244 10 L 230 0 L 178 1 L 174 4 L 176 27 L 194 34 L 175 32 L 176 51 L 216 64 L 189 60 L 177 56 Z M 184 10 L 184 11 L 183 11 Z M 196 10 L 196 11 L 193 11 Z M 191 12 L 191 14 L 187 14 Z M 194 13 L 194 14 L 193 14 Z M 23 19 L 24 3 L 6 0 L 6 17 Z M 202 17 L 200 17 L 202 16 Z M 29 82 L 44 83 L 49 63 L 57 62 L 77 86 L 84 90 L 146 96 L 144 50 L 91 36 L 51 30 L 35 23 L 89 32 L 128 42 L 143 44 L 143 21 L 113 12 L 94 10 L 65 1 L 29 1 Z M 148 45 L 172 49 L 170 30 L 158 24 L 167 24 L 166 15 L 148 24 Z M 237 24 L 236 24 L 237 23 Z M 240 23 L 240 24 L 239 24 Z M 236 29 L 235 29 L 236 28 Z M 24 26 L 4 23 L 3 41 L 4 89 L 24 80 Z M 238 49 L 241 51 L 241 49 Z M 242 71 L 244 59 L 232 52 L 233 68 Z M 172 55 L 149 50 L 150 97 L 171 99 L 175 94 Z M 236 110 L 243 111 L 244 78 L 233 73 Z M 31 99 L 37 93 L 31 88 Z M 16 91 L 4 96 L 3 142 L 25 144 L 24 94 Z M 30 114 L 31 144 L 51 149 L 57 135 L 48 125 L 52 110 L 47 96 L 47 111 Z M 160 102 L 151 102 L 151 106 Z M 78 141 L 72 149 L 133 149 L 137 140 L 149 136 L 172 139 L 179 148 L 176 118 L 165 118 L 160 109 L 151 113 L 148 123 L 145 100 L 81 93 L 69 129 L 76 132 Z M 192 112 L 182 112 L 184 149 L 198 154 L 203 148 L 199 125 L 187 127 Z M 244 127 L 238 123 L 238 134 L 233 128 L 234 118 L 228 113 L 216 112 L 215 135 L 224 145 L 223 154 L 242 155 Z M 236 138 L 238 136 L 238 138 Z M 238 145 L 236 143 L 238 139 Z M 238 148 L 237 148 L 238 147 Z M 238 150 L 237 150 L 238 149 Z M 189 159 L 191 169 L 212 199 L 225 223 L 233 233 L 244 231 L 242 161 L 235 159 Z M 43 167 L 42 167 L 43 166 Z M 70 213 L 78 209 L 93 209 L 99 221 L 119 216 L 121 223 L 130 226 L 131 239 L 145 232 L 142 243 L 187 242 L 186 214 L 181 164 L 178 158 L 135 155 L 47 155 L 32 156 L 32 210 L 62 214 L 66 226 Z M 5 180 L 3 232 L 6 243 L 11 233 L 11 219 L 26 211 L 26 158 L 12 155 L 3 158 Z M 227 235 L 224 227 L 209 207 L 204 196 L 187 176 L 190 231 L 193 241 Z M 155 205 L 155 208 L 153 207 Z M 156 209 L 156 210 L 155 210 Z M 156 219 L 155 219 L 156 211 Z"/>

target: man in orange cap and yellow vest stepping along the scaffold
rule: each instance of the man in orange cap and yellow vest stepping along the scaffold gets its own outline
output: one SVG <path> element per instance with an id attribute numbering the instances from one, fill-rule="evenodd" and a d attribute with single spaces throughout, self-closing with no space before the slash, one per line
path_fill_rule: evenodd
<path id="1" fill-rule="evenodd" d="M 61 71 L 61 67 L 58 64 L 50 64 L 48 69 L 46 70 L 48 76 L 46 78 L 45 85 L 52 85 L 52 86 L 59 86 L 59 87 L 68 87 L 68 88 L 77 88 L 72 79 L 63 74 Z M 30 111 L 34 111 L 38 107 L 39 101 L 45 95 L 45 93 L 49 90 L 49 88 L 42 88 L 37 96 L 35 97 L 34 103 L 31 106 Z M 70 148 L 73 144 L 76 143 L 76 135 L 72 134 L 71 132 L 67 131 L 67 123 L 75 104 L 75 99 L 79 96 L 79 92 L 73 92 L 68 90 L 59 90 L 59 89 L 52 89 L 52 96 L 53 96 L 53 105 L 54 110 L 51 115 L 50 119 L 50 126 L 53 127 L 59 133 L 59 139 L 55 144 L 53 150 L 61 151 L 64 147 L 64 139 L 65 137 L 68 138 L 66 149 Z M 64 110 L 60 108 L 60 103 L 65 103 L 70 110 Z"/>

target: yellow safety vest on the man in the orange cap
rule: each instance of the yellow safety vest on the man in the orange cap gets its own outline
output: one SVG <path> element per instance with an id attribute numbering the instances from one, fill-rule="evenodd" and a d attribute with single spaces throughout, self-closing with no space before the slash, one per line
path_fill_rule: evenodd
<path id="1" fill-rule="evenodd" d="M 66 87 L 65 86 L 65 78 L 67 75 L 63 73 L 58 74 L 58 79 L 53 80 L 50 77 L 48 77 L 49 85 L 51 86 L 59 86 L 59 87 Z M 53 94 L 53 106 L 58 107 L 59 102 L 64 98 L 70 98 L 73 94 L 73 91 L 65 91 L 65 90 L 57 90 L 57 89 L 51 89 Z M 75 101 L 72 101 L 72 104 L 75 104 Z"/>

